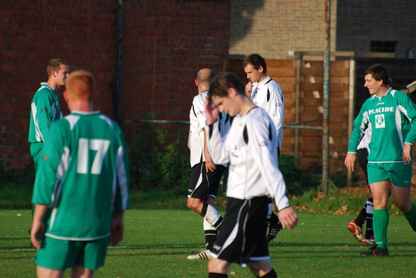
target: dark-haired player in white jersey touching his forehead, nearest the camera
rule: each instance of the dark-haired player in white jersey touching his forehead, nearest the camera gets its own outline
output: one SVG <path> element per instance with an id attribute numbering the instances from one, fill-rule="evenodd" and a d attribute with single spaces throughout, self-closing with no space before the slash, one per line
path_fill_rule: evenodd
<path id="1" fill-rule="evenodd" d="M 220 112 L 234 116 L 225 138 L 218 131 Z M 216 164 L 229 162 L 227 209 L 209 259 L 209 278 L 226 278 L 231 263 L 247 265 L 255 277 L 276 278 L 263 228 L 270 198 L 283 227 L 295 227 L 297 215 L 277 165 L 275 125 L 250 101 L 234 73 L 219 73 L 212 80 L 205 114 L 211 159 Z"/>

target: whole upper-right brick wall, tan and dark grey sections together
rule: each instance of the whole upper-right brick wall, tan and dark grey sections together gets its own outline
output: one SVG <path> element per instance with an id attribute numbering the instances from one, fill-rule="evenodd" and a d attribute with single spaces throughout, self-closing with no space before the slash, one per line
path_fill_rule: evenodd
<path id="1" fill-rule="evenodd" d="M 325 2 L 231 0 L 229 53 L 286 59 L 288 51 L 323 51 Z M 415 12 L 414 0 L 332 0 L 331 51 L 370 52 L 379 41 L 396 42 L 396 58 L 416 55 Z"/>

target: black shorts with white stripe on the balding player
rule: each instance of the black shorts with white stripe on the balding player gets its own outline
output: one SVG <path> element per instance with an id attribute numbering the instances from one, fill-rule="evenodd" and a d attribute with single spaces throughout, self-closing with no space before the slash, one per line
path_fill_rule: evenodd
<path id="1" fill-rule="evenodd" d="M 191 182 L 189 182 L 188 197 L 200 200 L 208 200 L 208 197 L 216 198 L 221 177 L 225 166 L 216 165 L 214 172 L 205 168 L 205 162 L 198 163 L 192 168 Z"/>

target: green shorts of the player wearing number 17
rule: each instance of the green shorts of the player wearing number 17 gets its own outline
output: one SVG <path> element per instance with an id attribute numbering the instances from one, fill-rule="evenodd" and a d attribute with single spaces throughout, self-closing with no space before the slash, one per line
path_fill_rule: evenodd
<path id="1" fill-rule="evenodd" d="M 108 237 L 94 241 L 66 241 L 45 236 L 37 250 L 36 264 L 42 268 L 64 270 L 74 265 L 97 270 L 104 265 Z"/>

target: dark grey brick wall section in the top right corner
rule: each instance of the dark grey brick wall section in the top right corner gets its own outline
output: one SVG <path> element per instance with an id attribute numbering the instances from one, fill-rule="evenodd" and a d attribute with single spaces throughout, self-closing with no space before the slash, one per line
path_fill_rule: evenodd
<path id="1" fill-rule="evenodd" d="M 396 58 L 416 54 L 414 0 L 338 1 L 338 51 L 370 52 L 372 41 L 397 42 Z"/>

